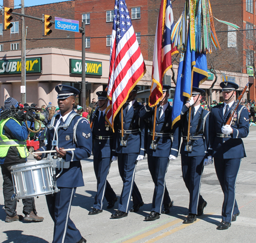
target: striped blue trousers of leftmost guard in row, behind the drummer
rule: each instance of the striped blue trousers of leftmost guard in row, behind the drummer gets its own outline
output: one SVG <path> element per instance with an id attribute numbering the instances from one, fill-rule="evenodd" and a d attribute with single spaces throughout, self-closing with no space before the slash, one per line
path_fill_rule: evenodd
<path id="1" fill-rule="evenodd" d="M 112 189 L 106 177 L 109 174 L 111 165 L 111 158 L 101 158 L 94 155 L 93 166 L 94 172 L 97 179 L 97 194 L 95 196 L 94 208 L 102 210 L 103 198 L 106 198 L 106 201 L 110 202 L 115 200 L 116 193 Z"/>

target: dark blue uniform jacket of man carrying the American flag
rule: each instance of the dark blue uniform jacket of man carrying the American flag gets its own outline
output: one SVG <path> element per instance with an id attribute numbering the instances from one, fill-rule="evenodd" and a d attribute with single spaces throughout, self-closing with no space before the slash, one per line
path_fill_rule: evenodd
<path id="1" fill-rule="evenodd" d="M 134 102 L 133 107 L 131 107 L 126 114 L 126 105 L 123 105 L 123 129 L 124 130 L 136 130 L 140 129 L 140 132 L 129 134 L 127 139 L 127 146 L 122 147 L 120 145 L 121 133 L 118 132 L 118 129 L 121 130 L 121 111 L 117 114 L 117 123 L 115 124 L 115 133 L 116 133 L 116 153 L 118 154 L 138 154 L 145 156 L 144 148 L 144 136 L 145 136 L 145 123 L 143 119 L 139 117 L 139 111 L 143 107 L 137 101 Z M 135 119 L 132 124 L 132 129 L 130 129 L 131 122 Z M 124 139 L 126 134 L 124 134 Z"/>

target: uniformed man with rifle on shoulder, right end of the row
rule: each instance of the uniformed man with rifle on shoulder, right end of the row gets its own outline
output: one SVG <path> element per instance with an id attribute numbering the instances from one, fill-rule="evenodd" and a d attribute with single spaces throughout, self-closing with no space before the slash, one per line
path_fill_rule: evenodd
<path id="1" fill-rule="evenodd" d="M 246 157 L 243 137 L 249 133 L 249 115 L 245 106 L 239 105 L 232 123 L 225 125 L 236 99 L 239 86 L 233 82 L 221 82 L 224 103 L 212 107 L 210 114 L 209 154 L 214 157 L 216 174 L 224 193 L 222 222 L 218 230 L 225 230 L 240 214 L 235 197 L 236 179 L 241 159 Z M 211 160 L 211 157 L 209 158 Z"/>

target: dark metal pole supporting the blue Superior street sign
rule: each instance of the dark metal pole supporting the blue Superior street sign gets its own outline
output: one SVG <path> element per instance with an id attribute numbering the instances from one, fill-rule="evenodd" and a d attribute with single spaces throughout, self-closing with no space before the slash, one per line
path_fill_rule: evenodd
<path id="1" fill-rule="evenodd" d="M 82 107 L 86 108 L 86 23 L 82 22 Z"/>

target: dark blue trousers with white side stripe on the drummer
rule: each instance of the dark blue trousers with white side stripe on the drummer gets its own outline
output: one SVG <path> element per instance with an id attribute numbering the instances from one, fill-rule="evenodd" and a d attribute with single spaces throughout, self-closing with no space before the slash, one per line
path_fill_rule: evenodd
<path id="1" fill-rule="evenodd" d="M 48 210 L 54 222 L 52 243 L 76 243 L 82 236 L 69 217 L 76 187 L 59 189 L 57 193 L 46 195 Z"/>

